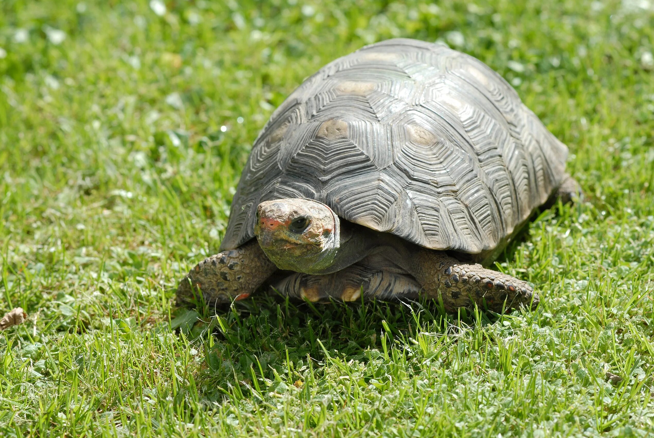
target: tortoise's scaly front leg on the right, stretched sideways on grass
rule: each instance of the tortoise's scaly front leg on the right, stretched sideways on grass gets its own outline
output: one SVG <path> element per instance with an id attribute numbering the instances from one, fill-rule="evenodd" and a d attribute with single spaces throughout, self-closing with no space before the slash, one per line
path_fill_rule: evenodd
<path id="1" fill-rule="evenodd" d="M 428 249 L 419 249 L 413 260 L 413 276 L 424 293 L 443 299 L 445 309 L 459 307 L 489 308 L 501 312 L 526 306 L 535 308 L 540 299 L 530 285 L 481 265 L 461 263 L 454 257 Z"/>

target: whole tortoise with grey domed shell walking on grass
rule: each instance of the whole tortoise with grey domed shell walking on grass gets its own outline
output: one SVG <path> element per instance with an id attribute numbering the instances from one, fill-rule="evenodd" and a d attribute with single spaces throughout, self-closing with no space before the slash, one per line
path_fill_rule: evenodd
<path id="1" fill-rule="evenodd" d="M 221 252 L 188 273 L 178 299 L 199 288 L 205 302 L 232 302 L 268 280 L 314 302 L 426 295 L 448 311 L 533 307 L 527 282 L 483 266 L 534 210 L 581 194 L 567 155 L 472 56 L 413 39 L 364 46 L 273 112 Z"/>

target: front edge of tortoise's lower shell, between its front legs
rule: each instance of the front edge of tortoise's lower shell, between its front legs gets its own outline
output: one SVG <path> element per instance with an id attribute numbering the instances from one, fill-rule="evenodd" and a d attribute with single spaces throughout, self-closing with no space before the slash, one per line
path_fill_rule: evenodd
<path id="1" fill-rule="evenodd" d="M 313 302 L 382 300 L 400 297 L 415 299 L 421 286 L 413 278 L 355 263 L 345 269 L 326 275 L 309 275 L 295 272 L 275 283 L 275 289 L 288 297 Z"/>

